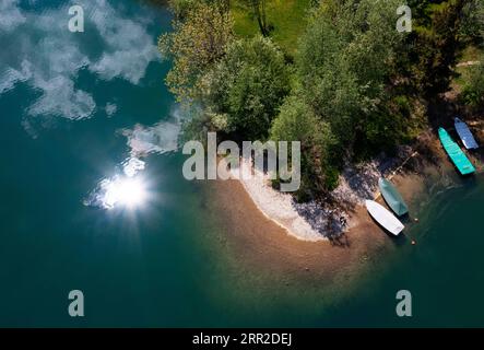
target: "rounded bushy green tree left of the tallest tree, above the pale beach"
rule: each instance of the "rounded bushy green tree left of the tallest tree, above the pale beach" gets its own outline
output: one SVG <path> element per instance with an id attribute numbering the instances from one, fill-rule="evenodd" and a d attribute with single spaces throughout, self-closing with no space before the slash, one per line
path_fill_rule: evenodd
<path id="1" fill-rule="evenodd" d="M 227 116 L 227 131 L 246 140 L 268 136 L 272 119 L 291 90 L 281 50 L 256 36 L 232 43 L 226 56 L 202 80 L 203 103 Z"/>

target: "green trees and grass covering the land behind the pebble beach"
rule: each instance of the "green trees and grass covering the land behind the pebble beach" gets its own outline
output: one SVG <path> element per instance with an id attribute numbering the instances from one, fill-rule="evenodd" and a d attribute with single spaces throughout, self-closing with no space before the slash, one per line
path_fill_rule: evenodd
<path id="1" fill-rule="evenodd" d="M 170 0 L 158 47 L 192 116 L 185 138 L 300 140 L 305 201 L 345 164 L 412 143 L 441 105 L 483 117 L 484 2 L 406 4 L 410 32 L 401 0 Z"/>

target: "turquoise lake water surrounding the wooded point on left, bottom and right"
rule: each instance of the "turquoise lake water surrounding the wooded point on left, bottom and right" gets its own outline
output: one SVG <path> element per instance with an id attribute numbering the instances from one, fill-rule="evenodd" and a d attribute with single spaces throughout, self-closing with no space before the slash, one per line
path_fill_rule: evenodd
<path id="1" fill-rule="evenodd" d="M 85 32 L 70 33 L 70 2 L 2 3 L 0 326 L 484 326 L 482 175 L 427 184 L 406 231 L 417 246 L 373 257 L 343 300 L 324 281 L 234 273 L 212 244 L 223 232 L 210 194 L 174 151 L 182 114 L 156 51 L 169 13 L 76 1 Z M 132 210 L 105 200 L 127 174 L 147 194 Z M 402 289 L 410 318 L 394 312 Z M 68 314 L 71 290 L 84 293 L 82 318 Z"/>

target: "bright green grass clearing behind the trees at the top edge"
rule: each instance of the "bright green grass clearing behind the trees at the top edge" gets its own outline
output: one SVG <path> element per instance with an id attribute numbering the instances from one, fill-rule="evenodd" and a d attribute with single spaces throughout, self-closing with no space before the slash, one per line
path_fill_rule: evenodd
<path id="1" fill-rule="evenodd" d="M 311 0 L 268 0 L 267 18 L 272 27 L 271 37 L 291 56 L 294 56 L 297 40 L 306 28 L 310 2 Z M 251 37 L 260 33 L 257 19 L 247 5 L 235 0 L 231 7 L 237 36 Z"/>

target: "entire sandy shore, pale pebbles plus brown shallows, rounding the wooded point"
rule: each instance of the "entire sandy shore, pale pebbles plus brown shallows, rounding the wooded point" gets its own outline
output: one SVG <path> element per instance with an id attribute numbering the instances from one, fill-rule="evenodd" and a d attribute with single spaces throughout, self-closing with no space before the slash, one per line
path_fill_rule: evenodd
<path id="1" fill-rule="evenodd" d="M 386 176 L 391 175 L 392 183 L 399 188 L 403 198 L 410 205 L 411 215 L 420 207 L 420 196 L 429 187 L 432 178 L 452 174 L 455 170 L 448 161 L 446 154 L 440 150 L 438 140 L 429 133 L 425 147 L 427 150 L 417 149 L 420 153 L 429 151 L 429 154 L 412 156 L 403 168 L 400 165 L 404 161 L 398 160 L 397 164 L 383 167 Z M 414 150 L 410 150 L 412 154 Z M 482 154 L 476 155 L 476 161 L 482 161 Z M 370 168 L 379 168 L 381 164 L 370 164 Z M 477 166 L 482 171 L 482 164 Z M 380 167 L 381 170 L 381 167 Z M 392 174 L 398 170 L 397 174 Z M 363 171 L 366 176 L 366 172 Z M 368 194 L 376 196 L 377 178 L 380 172 L 374 173 L 377 176 L 373 182 L 375 186 L 369 186 L 363 191 L 354 194 L 356 198 L 364 198 Z M 346 174 L 349 175 L 349 174 Z M 351 174 L 350 174 L 351 175 Z M 353 174 L 355 175 L 355 174 Z M 356 175 L 355 175 L 356 176 Z M 356 176 L 358 177 L 358 176 Z M 354 180 L 352 176 L 346 176 L 350 183 Z M 346 186 L 347 185 L 347 186 Z M 340 188 L 340 196 L 349 194 L 344 190 L 355 184 L 346 184 Z M 359 184 L 356 182 L 356 185 Z M 269 185 L 264 185 L 270 188 Z M 252 266 L 253 269 L 263 268 L 269 273 L 278 276 L 298 276 L 298 278 L 320 280 L 327 282 L 333 280 L 353 280 L 358 277 L 362 267 L 371 264 L 376 257 L 375 253 L 394 249 L 397 245 L 410 244 L 412 237 L 405 232 L 398 238 L 390 238 L 369 217 L 366 209 L 361 205 L 347 207 L 350 217 L 349 228 L 339 238 L 328 240 L 319 232 L 314 231 L 307 235 L 300 235 L 300 231 L 294 232 L 298 228 L 298 218 L 294 212 L 290 215 L 273 217 L 287 206 L 287 197 L 282 194 L 283 206 L 275 202 L 278 197 L 273 194 L 269 197 L 265 188 L 260 189 L 260 184 L 245 184 L 243 182 L 217 180 L 212 185 L 214 199 L 212 206 L 224 229 L 225 237 L 231 244 L 231 254 L 244 266 Z M 272 188 L 270 188 L 272 189 Z M 377 199 L 382 202 L 382 199 Z M 272 210 L 265 208 L 273 206 Z M 275 208 L 275 209 L 274 209 Z M 300 218 L 299 218 L 300 219 Z M 408 219 L 405 225 L 417 225 L 413 215 Z M 306 228 L 306 225 L 303 225 Z M 304 232 L 304 231 L 303 231 Z M 319 235 L 316 238 L 316 234 Z"/>

